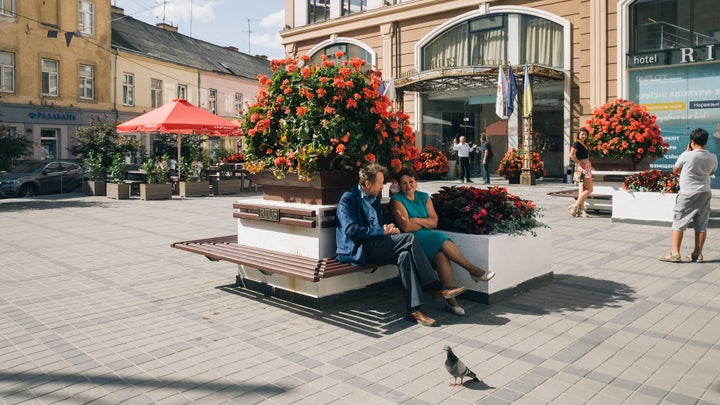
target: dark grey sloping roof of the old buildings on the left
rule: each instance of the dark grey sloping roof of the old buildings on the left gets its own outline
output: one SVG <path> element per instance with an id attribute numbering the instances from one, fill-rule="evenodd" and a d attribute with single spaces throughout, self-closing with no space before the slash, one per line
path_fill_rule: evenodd
<path id="1" fill-rule="evenodd" d="M 270 61 L 112 13 L 112 47 L 199 70 L 256 79 Z"/>

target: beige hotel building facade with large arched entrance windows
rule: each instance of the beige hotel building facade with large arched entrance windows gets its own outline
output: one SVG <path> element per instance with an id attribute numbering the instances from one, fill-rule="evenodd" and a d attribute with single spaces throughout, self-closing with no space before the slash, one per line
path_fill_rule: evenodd
<path id="1" fill-rule="evenodd" d="M 496 151 L 522 142 L 521 98 L 506 120 L 495 100 L 498 68 L 512 67 L 522 92 L 527 65 L 532 136 L 548 176 L 564 175 L 572 134 L 615 98 L 657 115 L 671 149 L 653 165 L 667 169 L 695 127 L 719 150 L 720 10 L 712 3 L 286 0 L 281 36 L 292 57 L 343 50 L 381 69 L 414 117 L 420 146 L 448 150 L 453 138 L 477 143 L 481 133 Z"/>

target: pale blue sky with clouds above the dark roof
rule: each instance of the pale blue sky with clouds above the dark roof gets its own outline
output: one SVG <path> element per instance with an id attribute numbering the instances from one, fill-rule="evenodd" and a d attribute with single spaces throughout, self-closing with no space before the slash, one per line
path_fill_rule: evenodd
<path id="1" fill-rule="evenodd" d="M 285 57 L 278 34 L 285 25 L 284 0 L 111 0 L 111 4 L 152 25 L 163 22 L 164 15 L 165 23 L 178 27 L 181 34 L 215 45 L 269 59 Z"/>

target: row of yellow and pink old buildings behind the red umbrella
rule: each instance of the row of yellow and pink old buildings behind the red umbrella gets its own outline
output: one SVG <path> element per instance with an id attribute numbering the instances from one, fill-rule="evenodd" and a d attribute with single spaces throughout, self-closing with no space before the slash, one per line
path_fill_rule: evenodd
<path id="1" fill-rule="evenodd" d="M 264 58 L 135 20 L 110 0 L 0 1 L 0 32 L 0 121 L 31 137 L 28 159 L 76 158 L 73 135 L 94 117 L 124 122 L 175 98 L 235 119 L 270 73 Z M 137 137 L 153 151 L 152 136 Z"/>

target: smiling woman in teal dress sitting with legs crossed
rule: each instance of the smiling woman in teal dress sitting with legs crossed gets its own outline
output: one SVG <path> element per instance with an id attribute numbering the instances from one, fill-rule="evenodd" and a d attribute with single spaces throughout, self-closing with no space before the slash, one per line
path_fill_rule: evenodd
<path id="1" fill-rule="evenodd" d="M 420 242 L 425 255 L 435 267 L 445 288 L 453 288 L 453 273 L 450 262 L 455 262 L 470 273 L 475 281 L 488 281 L 495 276 L 470 263 L 460 249 L 444 233 L 435 230 L 438 216 L 430 196 L 417 191 L 418 175 L 412 169 L 402 169 L 396 176 L 400 192 L 393 195 L 390 211 L 395 223 L 403 232 L 413 232 Z M 455 298 L 445 300 L 446 308 L 455 315 L 465 315 L 465 310 Z"/>

